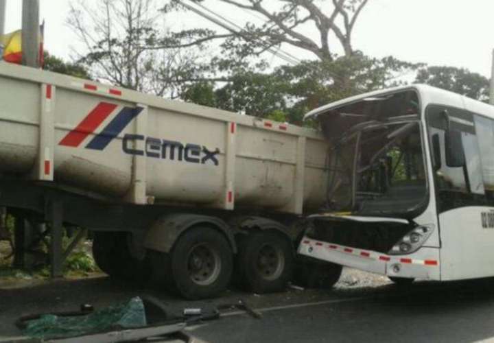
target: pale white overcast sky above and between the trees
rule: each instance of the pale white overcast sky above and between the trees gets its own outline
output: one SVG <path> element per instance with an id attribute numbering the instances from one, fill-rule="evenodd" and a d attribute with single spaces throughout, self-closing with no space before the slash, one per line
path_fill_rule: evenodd
<path id="1" fill-rule="evenodd" d="M 10 32 L 21 27 L 22 0 L 6 1 L 5 32 Z M 83 49 L 65 24 L 69 1 L 40 0 L 40 20 L 46 22 L 45 48 L 67 60 L 73 56 L 71 49 Z M 94 5 L 97 0 L 85 0 L 85 3 Z M 330 1 L 318 3 L 324 8 Z M 253 16 L 216 0 L 205 4 L 235 23 L 259 23 L 259 14 Z M 353 32 L 353 48 L 369 56 L 392 55 L 410 62 L 464 67 L 489 77 L 494 48 L 493 14 L 492 0 L 369 0 Z M 216 28 L 206 19 L 185 12 L 180 12 L 169 25 L 173 29 Z M 316 38 L 316 31 L 311 27 L 306 27 L 304 32 Z M 336 42 L 332 43 L 336 46 Z M 286 46 L 283 50 L 298 58 L 313 58 L 293 47 Z M 274 64 L 283 62 L 272 56 L 271 60 Z"/>

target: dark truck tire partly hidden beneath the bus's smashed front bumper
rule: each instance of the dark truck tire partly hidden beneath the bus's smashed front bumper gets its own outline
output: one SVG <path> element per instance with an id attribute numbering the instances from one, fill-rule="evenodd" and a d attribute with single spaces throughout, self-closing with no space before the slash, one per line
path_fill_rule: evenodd
<path id="1" fill-rule="evenodd" d="M 306 288 L 330 289 L 338 282 L 342 265 L 299 258 L 295 265 L 294 283 Z"/>

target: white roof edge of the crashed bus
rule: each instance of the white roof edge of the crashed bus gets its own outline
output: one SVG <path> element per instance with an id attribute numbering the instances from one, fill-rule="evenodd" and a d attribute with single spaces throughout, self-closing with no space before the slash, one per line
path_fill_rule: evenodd
<path id="1" fill-rule="evenodd" d="M 390 93 L 398 93 L 401 91 L 411 91 L 414 90 L 419 93 L 419 98 L 423 102 L 423 107 L 427 104 L 442 104 L 447 106 L 454 106 L 464 108 L 473 113 L 478 113 L 479 115 L 484 115 L 494 119 L 494 106 L 480 102 L 457 93 L 450 91 L 445 91 L 440 88 L 429 86 L 427 84 L 412 84 L 408 86 L 398 86 L 393 88 L 381 89 L 380 91 L 373 91 L 368 93 L 363 93 L 360 95 L 355 95 L 353 97 L 346 97 L 345 99 L 338 100 L 336 102 L 331 102 L 330 104 L 314 108 L 309 113 L 304 116 L 304 119 L 309 119 L 327 113 L 330 110 L 334 110 L 341 106 L 351 104 L 352 102 L 358 102 L 362 99 L 368 99 L 373 97 L 382 97 Z"/>

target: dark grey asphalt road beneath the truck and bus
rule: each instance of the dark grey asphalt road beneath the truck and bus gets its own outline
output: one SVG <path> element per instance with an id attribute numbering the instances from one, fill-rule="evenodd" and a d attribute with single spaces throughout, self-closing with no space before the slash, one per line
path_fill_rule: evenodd
<path id="1" fill-rule="evenodd" d="M 0 289 L 0 338 L 19 335 L 14 320 L 25 314 L 112 305 L 132 296 L 160 298 L 171 312 L 213 308 L 239 298 L 262 313 L 241 311 L 189 327 L 207 342 L 475 342 L 494 340 L 494 280 L 340 286 L 331 291 L 290 289 L 258 296 L 236 290 L 221 299 L 186 302 L 152 287 L 114 283 L 107 277 L 55 281 Z"/>

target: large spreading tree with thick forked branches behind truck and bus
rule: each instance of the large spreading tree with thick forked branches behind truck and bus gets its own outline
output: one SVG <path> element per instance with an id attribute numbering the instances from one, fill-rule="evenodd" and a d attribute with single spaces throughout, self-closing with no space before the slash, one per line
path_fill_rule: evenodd
<path id="1" fill-rule="evenodd" d="M 212 0 L 193 0 L 207 11 Z M 215 104 L 266 117 L 280 110 L 287 120 L 301 123 L 303 113 L 322 104 L 375 88 L 399 84 L 396 79 L 415 71 L 421 64 L 396 58 L 371 58 L 353 49 L 353 29 L 368 0 L 216 0 L 233 8 L 255 12 L 266 21 L 246 23 L 222 42 L 220 66 L 226 85 L 215 91 Z M 180 8 L 178 0 L 169 0 L 165 8 Z M 204 5 L 202 5 L 204 3 Z M 323 6 L 325 5 L 323 9 Z M 329 6 L 328 6 L 329 5 Z M 209 6 L 211 8 L 211 6 Z M 328 10 L 329 9 L 329 10 Z M 231 23 L 235 25 L 234 23 Z M 318 35 L 307 34 L 313 25 Z M 331 40 L 331 35 L 336 37 Z M 211 32 L 209 38 L 221 38 Z M 343 54 L 338 56 L 339 47 Z M 314 60 L 290 58 L 293 65 L 268 71 L 268 64 L 257 59 L 264 51 L 292 45 L 310 51 Z M 259 62 L 248 64 L 249 57 Z M 240 67 L 240 63 L 244 63 Z M 243 69 L 248 69 L 245 71 Z"/>

